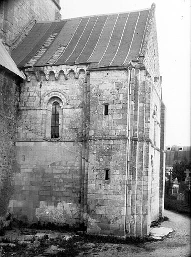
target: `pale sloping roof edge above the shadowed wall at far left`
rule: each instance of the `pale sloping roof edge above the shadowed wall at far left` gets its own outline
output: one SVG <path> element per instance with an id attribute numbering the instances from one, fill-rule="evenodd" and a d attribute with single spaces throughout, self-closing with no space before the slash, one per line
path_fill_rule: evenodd
<path id="1" fill-rule="evenodd" d="M 5 46 L 1 41 L 0 41 L 0 65 L 8 69 L 9 71 L 15 73 L 16 75 L 20 76 L 21 78 L 26 79 L 24 73 L 18 69 L 14 60 L 11 58 L 10 54 L 8 53 L 8 51 L 6 50 Z"/>

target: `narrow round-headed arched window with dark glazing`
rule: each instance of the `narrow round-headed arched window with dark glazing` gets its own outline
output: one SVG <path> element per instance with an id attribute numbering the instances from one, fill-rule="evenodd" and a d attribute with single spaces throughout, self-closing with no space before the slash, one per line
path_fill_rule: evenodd
<path id="1" fill-rule="evenodd" d="M 59 112 L 60 105 L 58 102 L 54 102 L 52 105 L 52 117 L 51 117 L 51 138 L 57 139 L 59 137 Z"/>

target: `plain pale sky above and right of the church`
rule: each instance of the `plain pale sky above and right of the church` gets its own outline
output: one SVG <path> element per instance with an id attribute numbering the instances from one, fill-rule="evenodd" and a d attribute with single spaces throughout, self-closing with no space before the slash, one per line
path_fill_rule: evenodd
<path id="1" fill-rule="evenodd" d="M 60 0 L 62 19 L 150 8 L 153 0 Z M 166 146 L 190 146 L 191 0 L 155 0 Z"/>

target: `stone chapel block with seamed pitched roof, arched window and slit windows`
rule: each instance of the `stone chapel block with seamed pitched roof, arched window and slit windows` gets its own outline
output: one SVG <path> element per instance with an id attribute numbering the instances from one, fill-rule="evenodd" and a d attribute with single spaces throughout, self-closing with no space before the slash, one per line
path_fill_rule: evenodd
<path id="1" fill-rule="evenodd" d="M 149 233 L 162 215 L 165 169 L 154 10 L 39 21 L 14 48 L 26 79 L 0 216 Z"/>

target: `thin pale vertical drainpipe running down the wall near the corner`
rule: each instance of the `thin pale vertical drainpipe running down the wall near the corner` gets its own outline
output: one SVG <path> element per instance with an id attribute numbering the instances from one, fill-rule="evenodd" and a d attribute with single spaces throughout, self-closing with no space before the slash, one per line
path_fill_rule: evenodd
<path id="1" fill-rule="evenodd" d="M 129 227 L 127 225 L 127 215 L 128 215 L 128 183 L 129 183 L 129 167 L 130 167 L 130 120 L 131 120 L 131 71 L 132 67 L 128 67 L 128 86 L 129 86 L 129 105 L 128 105 L 128 137 L 127 137 L 127 177 L 126 177 L 126 199 L 125 199 L 125 232 L 129 232 Z"/>

